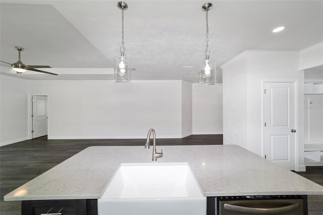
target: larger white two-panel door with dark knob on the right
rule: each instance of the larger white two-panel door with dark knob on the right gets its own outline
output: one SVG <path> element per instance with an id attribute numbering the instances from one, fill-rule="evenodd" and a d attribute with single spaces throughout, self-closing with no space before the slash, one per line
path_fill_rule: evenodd
<path id="1" fill-rule="evenodd" d="M 265 158 L 295 170 L 295 85 L 294 82 L 264 83 Z"/>

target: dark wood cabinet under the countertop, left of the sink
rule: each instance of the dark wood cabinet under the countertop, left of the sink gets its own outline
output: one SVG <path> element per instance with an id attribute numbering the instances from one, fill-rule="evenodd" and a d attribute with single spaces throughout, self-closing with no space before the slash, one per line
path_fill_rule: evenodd
<path id="1" fill-rule="evenodd" d="M 22 201 L 22 215 L 97 215 L 97 199 Z"/>

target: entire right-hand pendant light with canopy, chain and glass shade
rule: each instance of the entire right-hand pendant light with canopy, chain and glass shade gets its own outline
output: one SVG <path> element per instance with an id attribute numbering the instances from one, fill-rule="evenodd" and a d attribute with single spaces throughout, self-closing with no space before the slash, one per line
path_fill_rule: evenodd
<path id="1" fill-rule="evenodd" d="M 200 64 L 199 84 L 208 85 L 216 83 L 216 62 L 210 59 L 210 50 L 208 49 L 208 11 L 211 10 L 212 3 L 205 3 L 202 11 L 206 12 L 206 48 L 205 58 Z"/>

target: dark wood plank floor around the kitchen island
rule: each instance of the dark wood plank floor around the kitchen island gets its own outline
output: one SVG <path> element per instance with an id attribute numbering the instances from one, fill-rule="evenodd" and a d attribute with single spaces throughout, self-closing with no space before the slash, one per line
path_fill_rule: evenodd
<path id="1" fill-rule="evenodd" d="M 0 214 L 21 214 L 20 202 L 3 201 L 4 195 L 93 145 L 144 145 L 144 139 L 47 140 L 40 137 L 0 147 Z M 222 135 L 192 135 L 182 139 L 157 139 L 158 145 L 221 145 Z M 298 173 L 323 185 L 323 167 Z M 309 214 L 322 214 L 323 196 L 309 196 Z"/>

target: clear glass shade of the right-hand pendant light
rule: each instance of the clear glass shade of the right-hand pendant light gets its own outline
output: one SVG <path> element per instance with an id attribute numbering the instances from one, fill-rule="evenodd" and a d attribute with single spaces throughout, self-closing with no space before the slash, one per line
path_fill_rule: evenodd
<path id="1" fill-rule="evenodd" d="M 204 59 L 200 63 L 199 84 L 208 85 L 216 83 L 216 62 Z"/>

